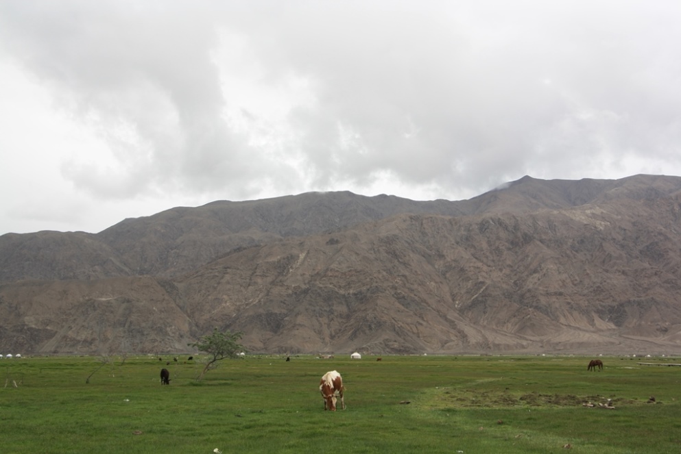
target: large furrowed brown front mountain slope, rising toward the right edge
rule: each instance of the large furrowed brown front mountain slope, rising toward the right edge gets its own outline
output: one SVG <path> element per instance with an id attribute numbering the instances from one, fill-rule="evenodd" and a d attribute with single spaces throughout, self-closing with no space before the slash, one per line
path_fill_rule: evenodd
<path id="1" fill-rule="evenodd" d="M 678 346 L 678 207 L 398 216 L 240 251 L 179 286 L 200 329 L 263 351 Z"/>

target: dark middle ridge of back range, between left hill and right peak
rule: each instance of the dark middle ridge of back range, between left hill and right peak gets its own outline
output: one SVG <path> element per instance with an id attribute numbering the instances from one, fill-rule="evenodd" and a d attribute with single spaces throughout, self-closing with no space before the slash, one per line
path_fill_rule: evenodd
<path id="1" fill-rule="evenodd" d="M 259 201 L 217 201 L 124 220 L 97 234 L 135 274 L 191 272 L 241 247 L 344 229 L 396 213 L 460 214 L 450 201 L 416 202 L 352 192 L 310 192 Z"/>

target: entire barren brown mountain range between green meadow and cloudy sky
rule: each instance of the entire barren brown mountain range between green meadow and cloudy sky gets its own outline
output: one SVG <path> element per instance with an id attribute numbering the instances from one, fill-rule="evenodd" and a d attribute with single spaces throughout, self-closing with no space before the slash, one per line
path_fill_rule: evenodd
<path id="1" fill-rule="evenodd" d="M 217 201 L 0 236 L 0 353 L 681 351 L 681 177 Z"/>

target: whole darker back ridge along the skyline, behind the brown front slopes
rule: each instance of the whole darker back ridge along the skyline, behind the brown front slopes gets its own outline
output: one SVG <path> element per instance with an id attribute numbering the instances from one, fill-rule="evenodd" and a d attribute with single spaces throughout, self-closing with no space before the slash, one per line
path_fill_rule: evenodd
<path id="1" fill-rule="evenodd" d="M 641 197 L 645 191 L 669 195 L 680 188 L 681 178 L 654 175 L 580 181 L 523 177 L 466 201 L 411 201 L 351 192 L 218 201 L 126 219 L 99 234 L 5 234 L 0 236 L 0 282 L 126 275 L 177 277 L 241 247 L 339 231 L 396 214 L 523 214 L 562 210 L 603 197 Z"/>

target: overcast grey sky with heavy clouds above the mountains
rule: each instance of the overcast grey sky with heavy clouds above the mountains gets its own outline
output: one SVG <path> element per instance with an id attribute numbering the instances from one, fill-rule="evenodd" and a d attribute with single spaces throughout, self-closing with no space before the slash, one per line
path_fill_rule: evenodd
<path id="1" fill-rule="evenodd" d="M 0 234 L 681 175 L 681 2 L 0 1 Z"/>

